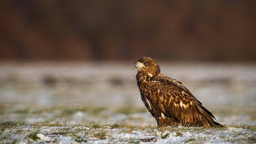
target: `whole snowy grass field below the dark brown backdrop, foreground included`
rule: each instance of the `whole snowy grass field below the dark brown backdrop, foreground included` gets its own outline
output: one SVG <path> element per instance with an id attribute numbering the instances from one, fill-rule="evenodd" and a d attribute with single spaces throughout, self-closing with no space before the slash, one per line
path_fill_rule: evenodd
<path id="1" fill-rule="evenodd" d="M 156 127 L 133 62 L 1 62 L 0 143 L 256 143 L 256 64 L 160 61 L 225 128 Z"/>

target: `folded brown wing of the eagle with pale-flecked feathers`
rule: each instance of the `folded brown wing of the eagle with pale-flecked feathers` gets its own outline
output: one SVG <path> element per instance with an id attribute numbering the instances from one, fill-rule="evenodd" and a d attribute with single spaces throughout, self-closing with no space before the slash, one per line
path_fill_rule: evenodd
<path id="1" fill-rule="evenodd" d="M 148 83 L 145 93 L 152 105 L 156 117 L 165 116 L 183 124 L 200 124 L 202 117 L 204 123 L 213 123 L 212 113 L 205 109 L 199 100 L 180 82 L 167 76 L 153 76 L 153 82 Z"/>

